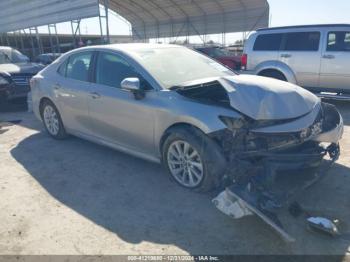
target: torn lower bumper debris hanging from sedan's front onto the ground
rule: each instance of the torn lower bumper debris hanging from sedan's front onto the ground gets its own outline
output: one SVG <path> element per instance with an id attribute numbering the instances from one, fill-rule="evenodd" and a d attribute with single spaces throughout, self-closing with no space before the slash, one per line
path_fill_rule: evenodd
<path id="1" fill-rule="evenodd" d="M 255 214 L 285 241 L 292 242 L 295 239 L 285 231 L 279 212 L 325 177 L 339 155 L 338 144 L 322 147 L 311 142 L 295 152 L 266 153 L 260 165 L 246 169 L 245 176 L 228 186 L 213 203 L 235 219 Z"/>

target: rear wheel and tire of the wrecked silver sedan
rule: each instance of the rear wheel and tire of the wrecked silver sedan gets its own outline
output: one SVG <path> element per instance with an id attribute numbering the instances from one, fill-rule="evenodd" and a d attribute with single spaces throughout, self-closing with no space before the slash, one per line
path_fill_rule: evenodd
<path id="1" fill-rule="evenodd" d="M 67 138 L 60 113 L 56 106 L 49 100 L 45 100 L 40 108 L 41 119 L 44 123 L 46 131 L 55 139 Z"/>

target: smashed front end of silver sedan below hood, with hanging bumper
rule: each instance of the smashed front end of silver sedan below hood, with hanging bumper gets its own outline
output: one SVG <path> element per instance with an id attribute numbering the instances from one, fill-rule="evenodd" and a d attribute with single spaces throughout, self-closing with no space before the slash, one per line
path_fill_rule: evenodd
<path id="1" fill-rule="evenodd" d="M 310 115 L 314 120 L 304 127 L 304 119 L 309 121 Z M 211 137 L 220 144 L 229 164 L 226 190 L 214 204 L 236 219 L 254 213 L 286 241 L 293 241 L 278 212 L 324 177 L 339 158 L 341 115 L 333 105 L 319 103 L 313 112 L 292 120 L 222 117 L 222 121 L 227 129 Z"/>

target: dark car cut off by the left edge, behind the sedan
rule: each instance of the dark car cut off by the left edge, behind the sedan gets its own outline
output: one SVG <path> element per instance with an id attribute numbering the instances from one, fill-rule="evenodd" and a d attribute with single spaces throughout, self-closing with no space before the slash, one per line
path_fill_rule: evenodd
<path id="1" fill-rule="evenodd" d="M 16 49 L 0 46 L 0 100 L 26 97 L 29 80 L 42 68 Z"/>

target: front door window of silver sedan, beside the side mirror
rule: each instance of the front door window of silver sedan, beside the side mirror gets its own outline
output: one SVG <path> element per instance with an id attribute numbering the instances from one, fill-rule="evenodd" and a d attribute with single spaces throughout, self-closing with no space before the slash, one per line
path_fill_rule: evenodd
<path id="1" fill-rule="evenodd" d="M 140 78 L 123 58 L 111 53 L 99 54 L 96 66 L 97 84 L 120 88 L 121 82 L 129 77 Z"/>

